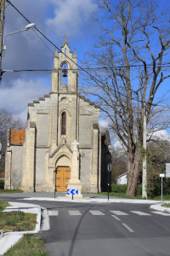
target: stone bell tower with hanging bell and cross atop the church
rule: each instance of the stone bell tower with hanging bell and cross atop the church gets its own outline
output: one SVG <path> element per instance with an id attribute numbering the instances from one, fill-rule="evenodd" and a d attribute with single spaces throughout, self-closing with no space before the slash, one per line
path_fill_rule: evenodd
<path id="1" fill-rule="evenodd" d="M 77 71 L 77 52 L 70 50 L 67 43 L 67 36 L 64 36 L 65 42 L 61 46 L 61 51 L 54 53 L 54 68 L 51 73 L 51 92 L 71 93 L 78 90 L 78 71 Z M 72 61 L 71 61 L 72 60 Z"/>

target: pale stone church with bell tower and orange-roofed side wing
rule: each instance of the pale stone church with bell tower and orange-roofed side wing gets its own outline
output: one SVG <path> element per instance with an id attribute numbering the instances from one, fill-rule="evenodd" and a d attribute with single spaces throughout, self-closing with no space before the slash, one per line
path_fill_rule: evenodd
<path id="1" fill-rule="evenodd" d="M 99 106 L 78 92 L 76 49 L 54 53 L 51 91 L 28 104 L 26 130 L 8 129 L 5 189 L 99 192 Z"/>

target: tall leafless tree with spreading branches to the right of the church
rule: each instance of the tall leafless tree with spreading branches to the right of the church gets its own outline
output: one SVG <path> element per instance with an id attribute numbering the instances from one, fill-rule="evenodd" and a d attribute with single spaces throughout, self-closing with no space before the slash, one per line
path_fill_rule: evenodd
<path id="1" fill-rule="evenodd" d="M 164 24 L 165 16 L 156 17 L 156 4 L 151 0 L 98 2 L 93 20 L 99 25 L 99 36 L 94 51 L 88 54 L 91 77 L 86 93 L 99 102 L 110 119 L 110 128 L 127 149 L 127 195 L 134 196 L 144 112 L 148 124 L 158 105 L 156 92 L 170 77 L 164 65 L 170 45 L 169 23 Z"/>

